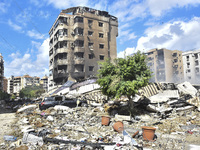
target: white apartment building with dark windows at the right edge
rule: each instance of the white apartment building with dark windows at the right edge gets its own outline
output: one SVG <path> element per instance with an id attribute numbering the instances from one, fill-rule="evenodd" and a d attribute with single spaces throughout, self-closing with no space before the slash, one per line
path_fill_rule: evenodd
<path id="1" fill-rule="evenodd" d="M 183 53 L 184 79 L 192 84 L 200 84 L 200 50 Z"/>

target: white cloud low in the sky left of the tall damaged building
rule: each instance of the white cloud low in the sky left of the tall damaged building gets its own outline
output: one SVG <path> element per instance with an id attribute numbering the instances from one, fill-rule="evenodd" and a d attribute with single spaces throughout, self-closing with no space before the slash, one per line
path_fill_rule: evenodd
<path id="1" fill-rule="evenodd" d="M 49 39 L 43 41 L 42 45 L 37 49 L 37 59 L 33 60 L 31 54 L 26 53 L 23 56 L 19 53 L 12 53 L 10 57 L 11 62 L 5 60 L 5 76 L 10 77 L 22 76 L 29 74 L 30 76 L 43 77 L 48 75 L 49 63 Z"/>

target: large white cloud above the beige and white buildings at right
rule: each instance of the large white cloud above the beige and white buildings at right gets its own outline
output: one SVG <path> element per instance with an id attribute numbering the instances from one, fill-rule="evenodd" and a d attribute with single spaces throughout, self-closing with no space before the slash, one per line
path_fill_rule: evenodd
<path id="1" fill-rule="evenodd" d="M 188 22 L 168 22 L 147 28 L 145 36 L 139 38 L 136 49 L 167 48 L 189 50 L 199 48 L 199 35 L 200 18 L 198 17 L 194 17 Z"/>

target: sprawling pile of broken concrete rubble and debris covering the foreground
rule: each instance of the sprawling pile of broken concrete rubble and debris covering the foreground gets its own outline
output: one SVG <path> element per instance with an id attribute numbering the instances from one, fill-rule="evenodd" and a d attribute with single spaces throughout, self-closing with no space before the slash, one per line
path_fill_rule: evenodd
<path id="1" fill-rule="evenodd" d="M 199 148 L 199 91 L 189 83 L 153 90 L 149 88 L 148 93 L 143 91 L 133 98 L 132 117 L 126 98 L 104 105 L 56 105 L 46 110 L 40 110 L 38 104 L 24 105 L 17 110 L 18 120 L 13 125 L 17 139 L 5 139 L 0 149 Z M 121 126 L 116 127 L 119 122 Z"/>

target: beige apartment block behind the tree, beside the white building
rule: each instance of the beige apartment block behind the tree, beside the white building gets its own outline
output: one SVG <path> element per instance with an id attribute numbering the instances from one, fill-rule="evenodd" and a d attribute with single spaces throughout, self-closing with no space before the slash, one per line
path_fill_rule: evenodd
<path id="1" fill-rule="evenodd" d="M 152 82 L 183 81 L 182 51 L 165 48 L 151 49 L 147 53 L 148 66 L 153 72 Z"/>

